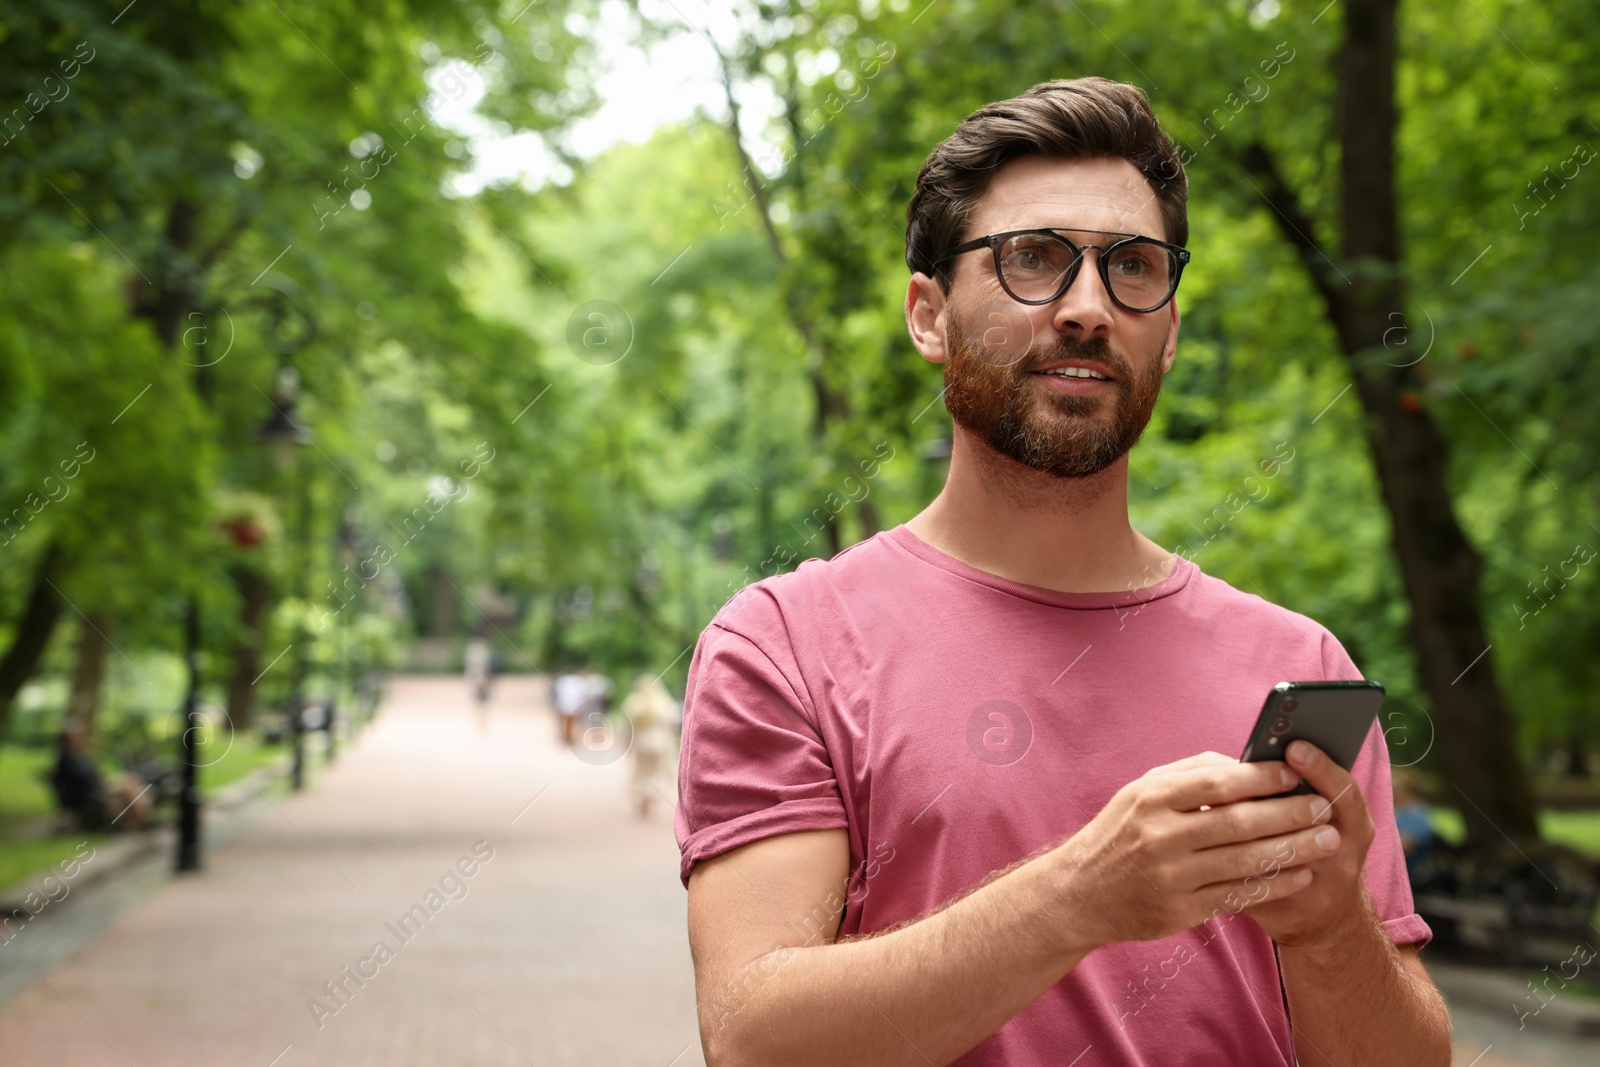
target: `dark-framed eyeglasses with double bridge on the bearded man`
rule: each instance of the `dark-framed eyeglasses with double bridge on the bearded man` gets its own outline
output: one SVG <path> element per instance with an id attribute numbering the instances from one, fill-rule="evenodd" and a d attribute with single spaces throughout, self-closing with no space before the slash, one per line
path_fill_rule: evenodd
<path id="1" fill-rule="evenodd" d="M 1106 245 L 1074 245 L 1058 230 L 1006 230 L 970 240 L 942 253 L 939 264 L 962 253 L 989 248 L 995 258 L 995 277 L 1011 299 L 1021 304 L 1050 304 L 1072 288 L 1083 266 L 1083 251 L 1093 248 L 1101 282 L 1117 307 L 1146 314 L 1173 299 L 1178 278 L 1189 262 L 1189 250 L 1154 237 L 1130 237 L 1104 230 L 1072 230 L 1098 237 L 1120 237 Z"/>

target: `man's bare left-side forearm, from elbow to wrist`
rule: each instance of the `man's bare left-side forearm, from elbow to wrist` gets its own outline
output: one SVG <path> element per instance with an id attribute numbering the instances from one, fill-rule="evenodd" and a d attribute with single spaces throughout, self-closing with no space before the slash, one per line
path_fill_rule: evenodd
<path id="1" fill-rule="evenodd" d="M 1093 947 L 1064 931 L 1059 878 L 1040 856 L 891 933 L 770 952 L 712 1000 L 706 1062 L 949 1064 Z"/>

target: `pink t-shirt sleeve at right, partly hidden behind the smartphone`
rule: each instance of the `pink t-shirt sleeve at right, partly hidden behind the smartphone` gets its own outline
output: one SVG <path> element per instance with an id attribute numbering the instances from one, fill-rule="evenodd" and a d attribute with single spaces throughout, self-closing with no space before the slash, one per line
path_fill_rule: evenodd
<path id="1" fill-rule="evenodd" d="M 1323 635 L 1322 648 L 1323 677 L 1330 681 L 1357 681 L 1362 672 L 1357 670 L 1344 646 L 1331 635 Z M 1378 917 L 1384 923 L 1384 933 L 1397 945 L 1414 944 L 1418 949 L 1434 937 L 1427 921 L 1416 913 L 1411 901 L 1411 880 L 1405 870 L 1405 849 L 1400 846 L 1400 830 L 1395 825 L 1394 782 L 1389 774 L 1389 744 L 1384 741 L 1384 712 L 1378 712 L 1362 745 L 1362 753 L 1355 757 L 1350 774 L 1366 797 L 1366 809 L 1373 816 L 1373 846 L 1366 851 L 1366 867 L 1362 877 L 1366 880 L 1366 891 L 1373 897 Z"/>

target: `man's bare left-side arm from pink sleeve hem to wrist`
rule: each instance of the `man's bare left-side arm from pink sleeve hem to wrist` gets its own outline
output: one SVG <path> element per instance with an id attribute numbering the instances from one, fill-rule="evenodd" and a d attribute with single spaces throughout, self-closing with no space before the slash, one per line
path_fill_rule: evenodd
<path id="1" fill-rule="evenodd" d="M 1082 960 L 1030 862 L 891 933 L 835 942 L 845 830 L 771 837 L 690 875 L 701 1045 L 734 1064 L 947 1064 Z M 986 990 L 973 997 L 973 990 Z"/>

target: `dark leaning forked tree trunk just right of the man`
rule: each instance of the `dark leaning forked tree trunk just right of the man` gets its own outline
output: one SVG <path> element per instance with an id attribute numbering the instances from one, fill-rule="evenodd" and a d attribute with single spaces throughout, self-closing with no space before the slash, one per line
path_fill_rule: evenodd
<path id="1" fill-rule="evenodd" d="M 1418 673 L 1432 702 L 1434 734 L 1474 843 L 1536 840 L 1533 792 L 1517 731 L 1494 677 L 1478 605 L 1482 560 L 1456 520 L 1450 454 L 1421 402 L 1410 362 L 1389 357 L 1403 336 L 1405 282 L 1395 200 L 1397 0 L 1347 0 L 1338 59 L 1342 269 L 1261 144 L 1245 168 L 1261 179 L 1278 229 L 1294 245 L 1328 309 L 1366 414 L 1400 579 L 1411 608 Z M 1395 331 L 1402 334 L 1395 334 Z"/>

